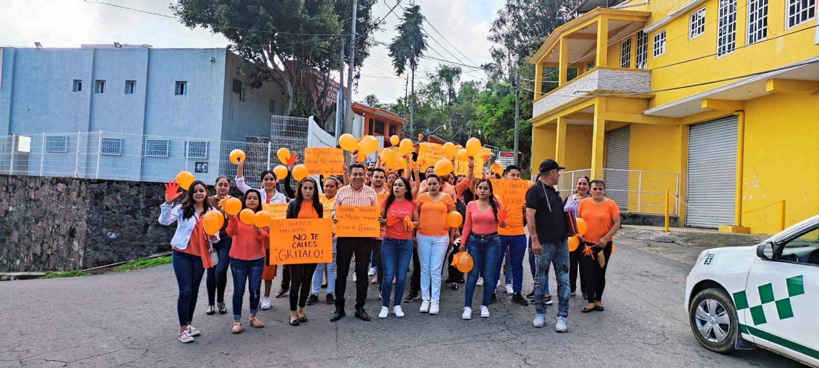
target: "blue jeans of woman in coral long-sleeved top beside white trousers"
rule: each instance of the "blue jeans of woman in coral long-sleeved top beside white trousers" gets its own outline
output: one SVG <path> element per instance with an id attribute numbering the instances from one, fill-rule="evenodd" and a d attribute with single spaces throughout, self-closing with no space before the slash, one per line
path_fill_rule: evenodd
<path id="1" fill-rule="evenodd" d="M 491 239 L 480 239 L 474 234 L 469 235 L 467 242 L 467 249 L 469 255 L 472 256 L 474 266 L 469 276 L 466 279 L 466 299 L 464 300 L 464 307 L 472 307 L 472 297 L 475 294 L 475 283 L 477 283 L 477 276 L 483 272 L 483 300 L 481 305 L 489 306 L 489 299 L 492 293 L 495 292 L 495 263 L 498 263 L 500 257 L 500 237 L 495 236 Z"/>

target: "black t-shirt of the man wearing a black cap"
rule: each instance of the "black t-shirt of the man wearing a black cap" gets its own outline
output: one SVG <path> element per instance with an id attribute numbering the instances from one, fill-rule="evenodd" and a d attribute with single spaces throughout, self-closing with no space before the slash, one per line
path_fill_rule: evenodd
<path id="1" fill-rule="evenodd" d="M 526 207 L 534 209 L 537 237 L 541 244 L 566 240 L 566 215 L 563 200 L 553 187 L 538 180 L 526 192 Z"/>

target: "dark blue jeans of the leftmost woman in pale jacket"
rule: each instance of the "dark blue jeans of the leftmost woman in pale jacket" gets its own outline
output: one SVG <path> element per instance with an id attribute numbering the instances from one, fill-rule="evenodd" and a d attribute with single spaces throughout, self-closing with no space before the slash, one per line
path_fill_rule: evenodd
<path id="1" fill-rule="evenodd" d="M 176 300 L 176 313 L 179 325 L 190 325 L 193 321 L 193 309 L 197 307 L 199 284 L 205 268 L 199 256 L 179 252 L 174 249 L 173 262 L 176 283 L 179 284 L 179 298 Z"/>

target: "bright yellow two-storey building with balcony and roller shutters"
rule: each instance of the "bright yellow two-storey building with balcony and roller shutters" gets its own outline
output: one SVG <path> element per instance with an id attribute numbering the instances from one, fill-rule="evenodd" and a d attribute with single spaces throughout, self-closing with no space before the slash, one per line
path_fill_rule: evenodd
<path id="1" fill-rule="evenodd" d="M 586 169 L 561 187 L 604 178 L 633 212 L 663 213 L 667 189 L 690 227 L 776 233 L 781 200 L 785 226 L 816 215 L 816 14 L 816 0 L 627 0 L 577 16 L 530 60 L 533 170 Z"/>

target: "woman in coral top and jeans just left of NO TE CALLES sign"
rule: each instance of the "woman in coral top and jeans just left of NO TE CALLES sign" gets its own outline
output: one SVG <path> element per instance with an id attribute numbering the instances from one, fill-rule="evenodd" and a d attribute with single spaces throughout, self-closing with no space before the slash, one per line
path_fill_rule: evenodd
<path id="1" fill-rule="evenodd" d="M 256 189 L 248 189 L 242 196 L 242 209 L 261 211 L 261 193 Z M 227 232 L 233 237 L 233 246 L 230 249 L 230 271 L 233 275 L 233 328 L 231 332 L 242 332 L 242 298 L 245 296 L 245 281 L 250 291 L 251 318 L 253 327 L 265 327 L 265 324 L 256 317 L 259 308 L 261 289 L 261 274 L 265 269 L 265 248 L 268 244 L 268 232 L 239 221 L 238 216 L 230 216 Z"/>

